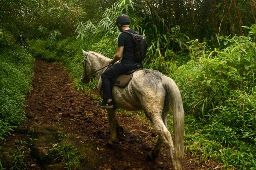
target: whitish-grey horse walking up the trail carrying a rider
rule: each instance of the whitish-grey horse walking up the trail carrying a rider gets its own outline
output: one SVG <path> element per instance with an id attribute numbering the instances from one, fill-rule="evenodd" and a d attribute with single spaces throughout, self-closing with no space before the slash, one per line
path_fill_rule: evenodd
<path id="1" fill-rule="evenodd" d="M 83 74 L 81 82 L 90 82 L 91 77 L 98 78 L 97 88 L 101 94 L 101 74 L 109 65 L 109 58 L 93 51 L 83 51 Z M 105 68 L 105 69 L 101 69 Z M 176 83 L 159 71 L 142 69 L 133 73 L 133 77 L 124 88 L 113 86 L 113 100 L 116 107 L 128 111 L 143 110 L 152 127 L 158 133 L 155 146 L 147 153 L 147 160 L 158 157 L 164 144 L 167 147 L 174 170 L 182 170 L 180 160 L 184 156 L 184 111 L 180 91 Z M 102 96 L 102 94 L 101 94 Z M 167 128 L 167 113 L 172 108 L 174 142 Z M 110 139 L 108 144 L 116 142 L 119 131 L 123 130 L 115 118 L 115 109 L 108 109 Z"/>

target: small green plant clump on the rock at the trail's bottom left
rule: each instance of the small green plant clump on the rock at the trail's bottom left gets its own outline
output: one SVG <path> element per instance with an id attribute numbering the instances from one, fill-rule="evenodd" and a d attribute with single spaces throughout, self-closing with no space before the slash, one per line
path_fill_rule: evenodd
<path id="1" fill-rule="evenodd" d="M 53 144 L 48 155 L 51 159 L 55 159 L 55 161 L 64 162 L 68 170 L 76 170 L 80 166 L 80 159 L 83 156 L 70 143 L 63 143 L 62 145 Z"/>

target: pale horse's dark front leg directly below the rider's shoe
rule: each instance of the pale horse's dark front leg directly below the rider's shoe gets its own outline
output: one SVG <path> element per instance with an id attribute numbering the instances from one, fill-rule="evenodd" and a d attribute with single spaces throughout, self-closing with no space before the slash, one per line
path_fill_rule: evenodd
<path id="1" fill-rule="evenodd" d="M 118 123 L 116 122 L 115 109 L 108 109 L 108 120 L 110 128 L 110 138 L 108 139 L 108 146 L 112 146 L 116 142 L 116 127 Z"/>

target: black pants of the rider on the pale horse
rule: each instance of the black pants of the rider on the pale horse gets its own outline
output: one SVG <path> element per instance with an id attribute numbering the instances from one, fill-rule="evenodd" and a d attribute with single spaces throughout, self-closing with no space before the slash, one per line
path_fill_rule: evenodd
<path id="1" fill-rule="evenodd" d="M 105 70 L 102 75 L 103 99 L 112 99 L 112 86 L 110 79 L 120 76 L 130 71 L 135 63 L 123 64 L 121 62 Z"/>

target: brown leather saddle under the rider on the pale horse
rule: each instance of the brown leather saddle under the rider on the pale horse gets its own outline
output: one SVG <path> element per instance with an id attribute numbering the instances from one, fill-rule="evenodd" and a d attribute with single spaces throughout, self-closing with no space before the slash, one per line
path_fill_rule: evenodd
<path id="1" fill-rule="evenodd" d="M 126 85 L 128 85 L 128 83 L 132 79 L 132 76 L 133 76 L 134 72 L 138 71 L 138 70 L 142 70 L 142 69 L 143 69 L 142 64 L 140 64 L 140 63 L 134 64 L 131 71 L 128 71 L 126 74 L 122 74 L 118 77 L 115 77 L 115 78 L 111 79 L 112 87 L 113 86 L 118 86 L 120 88 L 124 88 Z"/>

